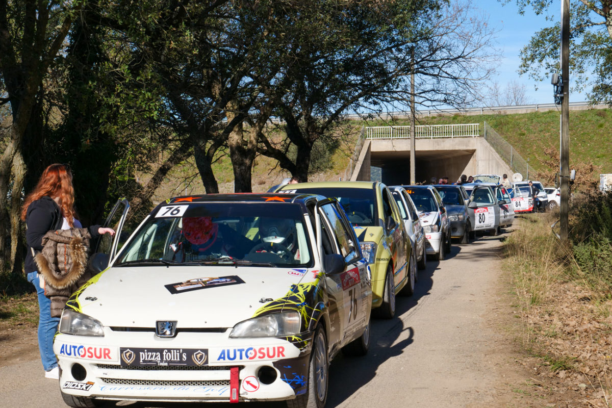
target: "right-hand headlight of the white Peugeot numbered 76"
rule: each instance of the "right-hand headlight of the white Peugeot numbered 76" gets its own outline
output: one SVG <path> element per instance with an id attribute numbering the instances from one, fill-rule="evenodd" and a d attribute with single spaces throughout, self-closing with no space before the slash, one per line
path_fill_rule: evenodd
<path id="1" fill-rule="evenodd" d="M 293 336 L 300 332 L 301 324 L 302 319 L 296 311 L 272 313 L 240 322 L 234 326 L 230 337 Z"/>

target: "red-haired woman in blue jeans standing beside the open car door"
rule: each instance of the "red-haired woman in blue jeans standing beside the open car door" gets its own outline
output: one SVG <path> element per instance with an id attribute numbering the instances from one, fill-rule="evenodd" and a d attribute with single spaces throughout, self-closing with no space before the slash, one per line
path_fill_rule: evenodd
<path id="1" fill-rule="evenodd" d="M 45 296 L 45 280 L 41 279 L 34 262 L 34 255 L 42 250 L 42 237 L 56 229 L 82 228 L 74 209 L 74 188 L 72 172 L 68 165 L 54 164 L 43 171 L 34 191 L 26 196 L 21 209 L 21 220 L 26 221 L 25 269 L 28 281 L 34 284 L 39 299 L 38 341 L 40 359 L 45 369 L 45 377 L 59 378 L 58 361 L 53 353 L 53 336 L 58 330 L 59 318 L 51 317 L 51 300 Z M 114 234 L 111 228 L 99 225 L 89 227 L 93 237 L 101 234 Z"/>

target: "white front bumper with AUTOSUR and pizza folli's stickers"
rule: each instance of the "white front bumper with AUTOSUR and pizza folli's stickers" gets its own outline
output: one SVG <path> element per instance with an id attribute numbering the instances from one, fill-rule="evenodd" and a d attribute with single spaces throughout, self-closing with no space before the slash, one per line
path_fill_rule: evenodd
<path id="1" fill-rule="evenodd" d="M 61 368 L 59 384 L 64 393 L 97 399 L 222 402 L 230 401 L 231 368 L 237 367 L 239 401 L 293 399 L 307 391 L 312 333 L 292 342 L 230 339 L 230 332 L 182 332 L 174 338 L 110 328 L 105 328 L 105 337 L 60 333 L 53 345 Z M 156 355 L 166 357 L 160 363 Z M 177 365 L 175 355 L 178 362 L 185 357 L 195 361 L 197 355 L 200 364 Z M 147 365 L 141 365 L 142 358 Z"/>

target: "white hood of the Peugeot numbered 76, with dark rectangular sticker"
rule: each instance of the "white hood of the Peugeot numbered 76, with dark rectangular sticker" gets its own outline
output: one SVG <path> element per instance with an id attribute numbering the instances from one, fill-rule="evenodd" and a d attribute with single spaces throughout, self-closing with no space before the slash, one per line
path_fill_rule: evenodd
<path id="1" fill-rule="evenodd" d="M 233 327 L 284 297 L 292 284 L 315 281 L 307 269 L 173 266 L 118 267 L 95 276 L 81 294 L 81 313 L 105 326 L 155 327 L 158 320 L 181 327 Z M 223 278 L 198 284 L 199 278 Z M 187 281 L 192 283 L 183 284 Z M 204 280 L 206 281 L 206 280 Z M 199 289 L 194 287 L 201 286 Z M 178 290 L 176 288 L 179 288 Z M 174 292 L 174 293 L 173 293 Z"/>

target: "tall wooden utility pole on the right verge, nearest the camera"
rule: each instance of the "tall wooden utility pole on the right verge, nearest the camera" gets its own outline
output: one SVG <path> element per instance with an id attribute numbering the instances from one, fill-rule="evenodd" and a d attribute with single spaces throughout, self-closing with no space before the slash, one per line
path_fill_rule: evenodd
<path id="1" fill-rule="evenodd" d="M 559 236 L 567 244 L 569 230 L 570 197 L 570 133 L 569 133 L 569 91 L 570 91 L 570 0 L 561 0 L 561 80 L 563 99 L 561 102 L 561 220 Z"/>

